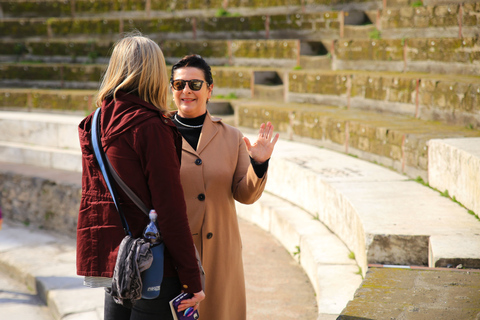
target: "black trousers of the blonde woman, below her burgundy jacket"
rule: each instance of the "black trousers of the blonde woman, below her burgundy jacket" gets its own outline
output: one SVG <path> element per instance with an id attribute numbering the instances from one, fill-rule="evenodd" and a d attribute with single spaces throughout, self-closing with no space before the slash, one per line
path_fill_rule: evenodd
<path id="1" fill-rule="evenodd" d="M 140 299 L 131 308 L 117 304 L 105 292 L 104 320 L 173 320 L 169 302 L 180 294 L 178 278 L 163 278 L 160 295 L 152 300 Z"/>

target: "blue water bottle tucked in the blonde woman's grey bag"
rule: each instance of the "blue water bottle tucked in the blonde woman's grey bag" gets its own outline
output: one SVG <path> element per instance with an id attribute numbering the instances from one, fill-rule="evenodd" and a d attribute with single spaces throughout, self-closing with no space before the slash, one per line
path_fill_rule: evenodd
<path id="1" fill-rule="evenodd" d="M 157 228 L 157 213 L 155 210 L 150 210 L 149 217 L 150 223 L 145 228 L 143 236 L 147 242 L 150 242 L 153 263 L 150 268 L 142 272 L 143 299 L 155 299 L 158 297 L 163 280 L 163 253 L 165 245 Z"/>

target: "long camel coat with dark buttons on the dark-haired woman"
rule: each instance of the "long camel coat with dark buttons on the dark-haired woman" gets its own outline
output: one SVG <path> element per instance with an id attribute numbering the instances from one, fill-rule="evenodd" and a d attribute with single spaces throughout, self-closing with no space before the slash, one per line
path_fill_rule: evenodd
<path id="1" fill-rule="evenodd" d="M 195 151 L 183 140 L 181 181 L 193 240 L 206 274 L 204 320 L 245 320 L 246 298 L 242 241 L 235 201 L 251 204 L 262 195 L 243 135 L 213 118 L 205 118 Z"/>

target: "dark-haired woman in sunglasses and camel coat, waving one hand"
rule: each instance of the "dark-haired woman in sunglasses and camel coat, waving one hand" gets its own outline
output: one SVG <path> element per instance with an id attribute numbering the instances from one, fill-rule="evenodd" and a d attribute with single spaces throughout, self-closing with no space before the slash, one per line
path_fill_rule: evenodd
<path id="1" fill-rule="evenodd" d="M 278 134 L 262 124 L 257 141 L 212 117 L 210 66 L 190 55 L 172 67 L 172 93 L 178 111 L 173 122 L 182 134 L 180 176 L 194 242 L 206 274 L 206 299 L 200 307 L 207 320 L 245 320 L 246 298 L 242 243 L 235 200 L 251 204 L 262 195 L 268 160 Z"/>

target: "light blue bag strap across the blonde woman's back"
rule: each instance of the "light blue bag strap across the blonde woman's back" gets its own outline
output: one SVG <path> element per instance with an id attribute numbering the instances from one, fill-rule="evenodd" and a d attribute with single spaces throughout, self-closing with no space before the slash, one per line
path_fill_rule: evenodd
<path id="1" fill-rule="evenodd" d="M 120 218 L 122 220 L 122 225 L 123 229 L 125 230 L 125 234 L 131 235 L 130 229 L 127 224 L 127 220 L 125 219 L 125 216 L 123 215 L 122 208 L 120 206 L 120 203 L 118 202 L 118 195 L 115 190 L 115 187 L 111 183 L 110 179 L 110 174 L 107 171 L 105 167 L 105 153 L 103 152 L 103 147 L 101 146 L 101 140 L 99 136 L 100 132 L 100 112 L 101 108 L 97 108 L 95 110 L 95 113 L 93 115 L 93 120 L 92 120 L 92 144 L 93 144 L 93 151 L 95 153 L 95 158 L 97 159 L 98 165 L 100 166 L 100 170 L 102 171 L 103 178 L 105 179 L 105 182 L 107 184 L 108 190 L 110 191 L 110 194 L 112 195 L 113 202 L 115 203 L 115 207 L 117 208 L 118 213 L 120 214 Z M 100 149 L 102 148 L 102 149 Z"/>

